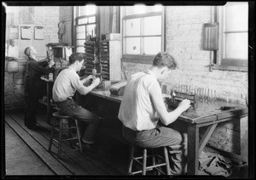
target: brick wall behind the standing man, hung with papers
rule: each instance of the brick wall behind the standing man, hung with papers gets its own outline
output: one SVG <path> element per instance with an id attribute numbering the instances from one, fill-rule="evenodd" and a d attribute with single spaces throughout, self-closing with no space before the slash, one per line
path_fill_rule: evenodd
<path id="1" fill-rule="evenodd" d="M 7 14 L 10 15 L 10 14 Z M 11 10 L 11 22 L 6 22 L 8 30 L 9 25 L 35 25 L 44 26 L 44 40 L 17 40 L 15 46 L 19 47 L 19 72 L 9 73 L 4 72 L 4 109 L 16 109 L 24 107 L 24 73 L 26 65 L 26 57 L 24 48 L 34 46 L 38 51 L 38 59 L 45 58 L 46 52 L 40 47 L 45 48 L 47 42 L 58 42 L 58 22 L 59 22 L 59 7 L 13 7 Z M 7 17 L 7 19 L 9 19 Z M 20 31 L 20 30 L 19 30 Z M 19 32 L 20 33 L 20 32 Z M 7 33 L 6 40 L 9 39 Z M 5 65 L 8 61 L 5 61 Z"/>

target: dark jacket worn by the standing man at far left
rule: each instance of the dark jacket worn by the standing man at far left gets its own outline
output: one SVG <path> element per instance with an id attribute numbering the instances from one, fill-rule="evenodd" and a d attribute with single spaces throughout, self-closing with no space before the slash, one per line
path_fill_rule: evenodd
<path id="1" fill-rule="evenodd" d="M 28 58 L 26 62 L 26 72 L 25 72 L 25 94 L 26 96 L 38 96 L 38 92 L 41 88 L 41 79 L 43 75 L 47 75 L 52 72 L 49 68 L 48 62 L 38 62 L 35 59 Z"/>

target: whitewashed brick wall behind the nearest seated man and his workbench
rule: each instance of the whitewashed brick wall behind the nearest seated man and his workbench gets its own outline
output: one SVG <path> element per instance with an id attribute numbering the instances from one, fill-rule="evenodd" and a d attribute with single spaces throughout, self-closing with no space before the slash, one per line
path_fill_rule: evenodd
<path id="1" fill-rule="evenodd" d="M 202 49 L 202 34 L 203 24 L 212 22 L 211 19 L 210 6 L 166 7 L 166 51 L 177 59 L 178 68 L 173 70 L 163 83 L 167 88 L 174 85 L 209 88 L 216 90 L 218 98 L 245 104 L 248 88 L 247 72 L 228 70 L 210 72 L 207 67 L 210 64 L 211 52 Z M 126 76 L 151 66 L 125 62 L 123 64 Z M 247 125 L 247 118 L 243 123 Z M 223 123 L 218 125 L 209 144 L 241 154 L 240 134 L 239 121 Z"/>

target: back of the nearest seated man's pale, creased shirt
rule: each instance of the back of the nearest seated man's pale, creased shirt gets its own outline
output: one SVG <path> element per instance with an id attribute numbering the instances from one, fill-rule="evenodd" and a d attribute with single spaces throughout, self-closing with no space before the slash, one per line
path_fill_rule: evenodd
<path id="1" fill-rule="evenodd" d="M 152 71 L 145 70 L 131 75 L 119 108 L 119 120 L 125 127 L 135 131 L 152 129 L 158 118 L 155 117 L 149 90 L 158 83 Z"/>

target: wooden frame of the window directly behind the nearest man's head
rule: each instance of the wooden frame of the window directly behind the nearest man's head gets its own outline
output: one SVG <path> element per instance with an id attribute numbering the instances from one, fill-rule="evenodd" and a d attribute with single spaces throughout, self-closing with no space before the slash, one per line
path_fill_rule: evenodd
<path id="1" fill-rule="evenodd" d="M 150 12 L 146 14 L 132 14 L 132 15 L 126 15 L 125 16 L 125 7 L 121 8 L 120 13 L 120 28 L 121 28 L 121 42 L 122 42 L 122 61 L 123 62 L 131 62 L 131 63 L 140 63 L 140 64 L 150 64 L 152 65 L 155 54 L 154 55 L 148 55 L 148 54 L 125 54 L 125 47 L 124 47 L 124 21 L 125 20 L 131 20 L 136 18 L 145 18 L 145 17 L 153 17 L 156 15 L 161 15 L 161 51 L 165 51 L 166 44 L 165 44 L 165 38 L 166 38 L 166 7 L 162 6 L 161 12 Z M 132 36 L 129 36 L 132 37 Z M 150 36 L 139 36 L 139 37 L 150 37 Z M 152 36 L 152 37 L 158 37 L 158 36 Z M 143 48 L 143 47 L 141 47 Z"/>

